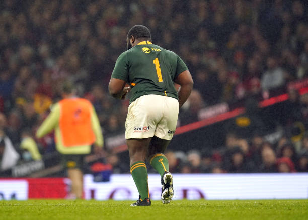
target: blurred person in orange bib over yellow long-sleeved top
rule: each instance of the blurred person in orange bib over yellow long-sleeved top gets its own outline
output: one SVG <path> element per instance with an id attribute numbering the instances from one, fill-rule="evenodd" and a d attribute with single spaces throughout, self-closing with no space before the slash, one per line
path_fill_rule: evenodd
<path id="1" fill-rule="evenodd" d="M 103 147 L 103 135 L 93 105 L 84 98 L 76 97 L 70 83 L 63 84 L 62 98 L 53 105 L 36 136 L 41 138 L 55 130 L 56 149 L 62 154 L 71 180 L 69 197 L 82 198 L 84 157 L 91 152 L 93 144 L 97 149 Z"/>

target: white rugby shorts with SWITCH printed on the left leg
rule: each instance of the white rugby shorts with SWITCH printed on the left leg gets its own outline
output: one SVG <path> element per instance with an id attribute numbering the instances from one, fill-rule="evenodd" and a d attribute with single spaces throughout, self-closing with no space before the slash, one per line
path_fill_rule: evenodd
<path id="1" fill-rule="evenodd" d="M 143 95 L 130 103 L 125 122 L 125 138 L 157 136 L 171 140 L 176 130 L 179 101 L 162 95 Z"/>

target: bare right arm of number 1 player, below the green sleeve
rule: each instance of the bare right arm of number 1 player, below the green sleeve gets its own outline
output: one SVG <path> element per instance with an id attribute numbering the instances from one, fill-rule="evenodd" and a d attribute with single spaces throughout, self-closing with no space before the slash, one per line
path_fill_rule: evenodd
<path id="1" fill-rule="evenodd" d="M 188 70 L 185 70 L 178 75 L 178 77 L 175 79 L 175 82 L 181 86 L 178 90 L 178 96 L 179 107 L 182 107 L 182 105 L 185 103 L 192 91 L 194 81 L 191 77 L 190 72 Z"/>

